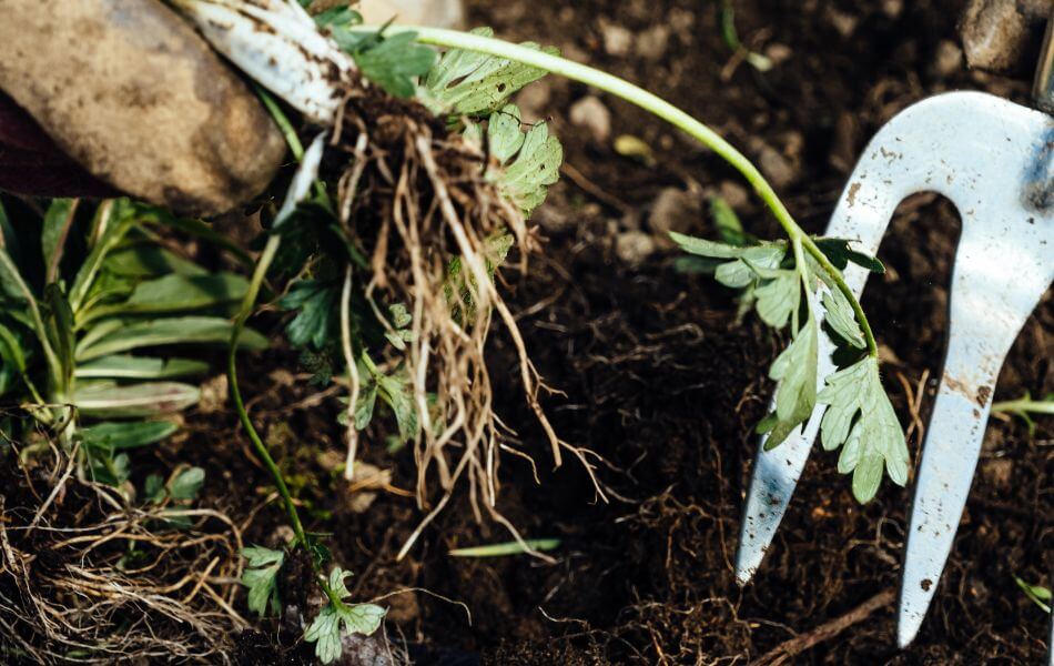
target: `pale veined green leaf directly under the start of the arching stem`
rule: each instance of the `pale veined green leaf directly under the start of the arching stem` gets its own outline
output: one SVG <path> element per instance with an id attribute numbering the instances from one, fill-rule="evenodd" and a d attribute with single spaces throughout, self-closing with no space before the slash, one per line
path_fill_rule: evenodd
<path id="1" fill-rule="evenodd" d="M 472 34 L 494 37 L 490 28 L 476 28 Z M 535 42 L 520 44 L 558 56 L 559 49 L 543 49 Z M 436 112 L 454 115 L 486 115 L 500 109 L 524 85 L 545 75 L 545 71 L 485 53 L 450 49 L 428 72 L 423 85 L 424 101 Z"/>

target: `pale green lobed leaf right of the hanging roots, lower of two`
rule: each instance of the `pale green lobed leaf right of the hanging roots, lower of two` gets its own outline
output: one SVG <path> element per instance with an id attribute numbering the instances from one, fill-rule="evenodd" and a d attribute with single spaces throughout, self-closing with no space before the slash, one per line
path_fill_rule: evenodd
<path id="1" fill-rule="evenodd" d="M 560 178 L 564 148 L 549 135 L 545 122 L 536 123 L 526 134 L 520 131 L 519 109 L 509 104 L 490 115 L 487 141 L 491 154 L 504 171 L 488 176 L 496 180 L 505 194 L 526 214 L 545 201 L 548 186 Z"/>

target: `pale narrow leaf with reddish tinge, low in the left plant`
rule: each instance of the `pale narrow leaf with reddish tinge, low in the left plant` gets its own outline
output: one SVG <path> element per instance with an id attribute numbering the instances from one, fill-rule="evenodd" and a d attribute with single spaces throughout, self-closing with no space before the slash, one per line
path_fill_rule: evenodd
<path id="1" fill-rule="evenodd" d="M 70 402 L 85 416 L 133 418 L 172 414 L 195 404 L 201 391 L 178 382 L 151 382 L 125 386 L 113 382 L 79 384 Z"/>

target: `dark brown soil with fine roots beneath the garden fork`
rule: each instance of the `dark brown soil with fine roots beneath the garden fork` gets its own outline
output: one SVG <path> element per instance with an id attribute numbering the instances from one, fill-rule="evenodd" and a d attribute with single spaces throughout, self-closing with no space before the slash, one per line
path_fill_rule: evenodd
<path id="1" fill-rule="evenodd" d="M 697 0 L 523 0 L 472 4 L 475 24 L 514 39 L 556 43 L 575 59 L 601 65 L 668 97 L 709 122 L 751 158 L 782 157 L 790 178 L 780 189 L 810 231 L 822 230 L 854 155 L 898 110 L 951 88 L 990 90 L 1023 99 L 1024 83 L 971 74 L 939 54 L 954 46 L 961 2 L 886 0 L 743 0 L 736 3 L 743 42 L 779 44 L 786 60 L 767 73 L 741 63 L 727 69 L 718 2 Z M 865 8 L 861 8 L 865 6 Z M 637 36 L 624 57 L 606 52 L 605 26 Z M 651 60 L 640 36 L 669 28 Z M 637 48 L 638 50 L 635 50 Z M 729 74 L 722 79 L 722 70 Z M 643 112 L 601 98 L 612 137 L 634 134 L 655 151 L 642 167 L 572 128 L 570 105 L 585 87 L 547 80 L 525 105 L 553 119 L 576 178 L 554 188 L 539 211 L 549 243 L 525 278 L 507 285 L 521 314 L 528 349 L 551 386 L 547 400 L 564 438 L 609 463 L 601 471 L 610 502 L 598 502 L 575 464 L 549 470 L 544 435 L 523 404 L 515 354 L 500 332 L 491 350 L 498 411 L 539 465 L 540 484 L 524 462 L 501 467 L 499 509 L 529 537 L 559 537 L 546 565 L 528 557 L 456 559 L 450 547 L 508 541 L 494 524 L 478 525 L 467 496 L 452 502 L 409 556 L 395 554 L 420 514 L 413 501 L 381 494 L 366 513 L 348 508 L 342 484 L 327 476 L 327 456 L 341 455 L 336 405 L 297 406 L 315 390 L 293 387 L 287 373 L 246 377 L 247 393 L 312 527 L 346 568 L 358 597 L 425 588 L 464 602 L 464 609 L 424 593 L 387 599 L 388 632 L 405 638 L 420 664 L 702 664 L 746 663 L 797 635 L 842 617 L 899 583 L 910 491 L 886 484 L 859 506 L 832 455 L 818 453 L 754 582 L 732 575 L 739 512 L 769 382 L 766 370 L 780 341 L 752 319 L 734 325 L 731 295 L 705 276 L 673 270 L 672 252 L 631 268 L 615 239 L 648 232 L 648 211 L 668 186 L 713 191 L 738 182 L 728 167 Z M 580 174 L 580 175 L 577 175 Z M 728 184 L 724 185 L 728 192 Z M 757 201 L 736 202 L 747 228 L 778 230 Z M 712 233 L 703 216 L 689 224 Z M 957 221 L 932 196 L 906 202 L 883 245 L 889 266 L 864 299 L 883 344 L 885 380 L 905 425 L 908 391 L 925 392 L 921 417 L 940 376 L 952 252 Z M 1050 299 L 1021 335 L 996 389 L 996 400 L 1054 390 L 1051 367 L 1054 309 Z M 273 352 L 255 367 L 293 367 Z M 507 377 L 500 370 L 508 367 Z M 928 377 L 928 379 L 926 379 Z M 214 417 L 212 417 L 214 418 Z M 209 458 L 226 470 L 230 494 L 215 500 L 247 511 L 268 491 L 233 417 L 224 427 L 199 424 L 181 456 Z M 207 436 L 204 436 L 207 435 Z M 1054 552 L 1054 438 L 1050 421 L 1034 436 L 1020 422 L 993 420 L 979 474 L 945 575 L 915 643 L 895 648 L 893 604 L 821 642 L 795 662 L 979 664 L 1037 663 L 1047 618 L 1021 593 L 1014 575 L 1051 584 Z M 910 445 L 918 453 L 921 433 Z M 251 454 L 250 454 L 251 455 Z M 365 457 L 394 467 L 393 485 L 412 487 L 409 452 L 389 456 L 368 443 Z M 199 462 L 199 464 L 201 464 Z M 256 495 L 245 491 L 259 486 Z M 273 543 L 282 522 L 260 514 L 251 531 Z M 261 644 L 245 639 L 246 659 Z M 257 652 L 253 652 L 257 650 Z M 416 652 L 415 652 L 416 650 Z M 251 656 L 256 655 L 256 656 Z"/>

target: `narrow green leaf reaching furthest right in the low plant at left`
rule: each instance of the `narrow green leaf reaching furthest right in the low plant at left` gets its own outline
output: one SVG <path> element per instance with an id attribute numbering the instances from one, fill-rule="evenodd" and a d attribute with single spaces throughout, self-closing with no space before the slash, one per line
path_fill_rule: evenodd
<path id="1" fill-rule="evenodd" d="M 214 316 L 118 322 L 116 326 L 100 326 L 103 334 L 83 337 L 77 346 L 77 360 L 83 363 L 135 349 L 170 344 L 225 345 L 231 341 L 232 329 L 230 321 Z M 251 329 L 242 332 L 240 350 L 260 351 L 266 347 L 267 339 L 259 332 Z"/>

